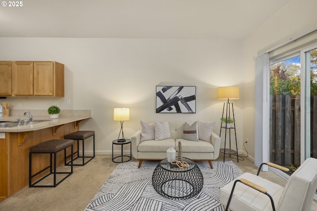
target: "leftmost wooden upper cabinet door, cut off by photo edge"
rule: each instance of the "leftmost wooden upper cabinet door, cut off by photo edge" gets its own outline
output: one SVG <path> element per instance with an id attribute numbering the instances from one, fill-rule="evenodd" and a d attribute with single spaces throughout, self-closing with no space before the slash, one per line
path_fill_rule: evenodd
<path id="1" fill-rule="evenodd" d="M 11 61 L 0 61 L 0 96 L 12 94 L 12 63 Z"/>

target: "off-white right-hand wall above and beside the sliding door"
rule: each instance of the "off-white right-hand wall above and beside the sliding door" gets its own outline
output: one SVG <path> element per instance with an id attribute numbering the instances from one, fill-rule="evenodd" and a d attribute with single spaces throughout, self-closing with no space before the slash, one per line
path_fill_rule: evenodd
<path id="1" fill-rule="evenodd" d="M 266 20 L 243 42 L 243 140 L 254 158 L 255 60 L 265 50 L 317 28 L 317 1 L 293 0 Z"/>

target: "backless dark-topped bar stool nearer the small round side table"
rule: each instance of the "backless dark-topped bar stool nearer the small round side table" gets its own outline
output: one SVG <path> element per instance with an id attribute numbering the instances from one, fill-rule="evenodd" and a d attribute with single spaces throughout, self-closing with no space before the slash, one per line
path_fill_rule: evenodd
<path id="1" fill-rule="evenodd" d="M 85 139 L 87 139 L 91 136 L 93 136 L 93 147 L 94 147 L 93 153 L 94 154 L 93 154 L 93 156 L 85 156 Z M 89 161 L 91 161 L 92 159 L 95 158 L 95 131 L 90 131 L 90 130 L 88 130 L 88 131 L 87 130 L 86 131 L 84 131 L 84 130 L 76 131 L 76 132 L 72 132 L 72 133 L 69 133 L 67 135 L 64 135 L 64 138 L 65 139 L 73 139 L 73 140 L 77 141 L 77 151 L 73 153 L 73 154 L 77 153 L 77 157 L 74 158 L 74 160 L 76 160 L 77 158 L 83 159 L 82 164 L 73 164 L 73 166 L 84 166 Z M 82 141 L 82 148 L 83 148 L 83 155 L 82 156 L 79 156 L 79 140 Z M 85 162 L 85 158 L 90 158 L 90 159 Z M 69 163 L 70 162 L 66 163 L 66 165 L 69 165 Z"/>

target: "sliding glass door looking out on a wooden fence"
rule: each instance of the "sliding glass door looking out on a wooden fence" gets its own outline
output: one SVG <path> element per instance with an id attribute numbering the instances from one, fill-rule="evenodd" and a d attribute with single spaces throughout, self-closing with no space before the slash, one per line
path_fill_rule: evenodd
<path id="1" fill-rule="evenodd" d="M 296 170 L 317 158 L 317 46 L 269 66 L 269 161 Z"/>

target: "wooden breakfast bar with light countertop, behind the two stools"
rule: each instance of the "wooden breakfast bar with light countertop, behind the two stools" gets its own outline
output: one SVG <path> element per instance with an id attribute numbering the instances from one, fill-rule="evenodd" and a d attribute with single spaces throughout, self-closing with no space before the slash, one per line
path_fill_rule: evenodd
<path id="1" fill-rule="evenodd" d="M 23 116 L 19 118 L 22 119 Z M 78 131 L 79 123 L 89 118 L 90 115 L 60 116 L 58 119 L 34 116 L 34 120 L 48 121 L 0 128 L 0 202 L 28 186 L 30 147 L 50 139 L 63 139 L 64 135 Z M 14 116 L 0 117 L 0 122 L 8 121 L 16 121 L 16 119 Z M 67 153 L 70 154 L 70 151 Z M 63 152 L 57 153 L 56 157 L 57 166 L 63 164 Z M 32 169 L 37 172 L 38 169 L 45 168 L 49 161 L 49 155 L 37 154 L 34 159 L 32 158 Z"/>

